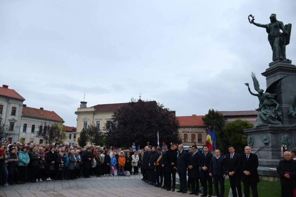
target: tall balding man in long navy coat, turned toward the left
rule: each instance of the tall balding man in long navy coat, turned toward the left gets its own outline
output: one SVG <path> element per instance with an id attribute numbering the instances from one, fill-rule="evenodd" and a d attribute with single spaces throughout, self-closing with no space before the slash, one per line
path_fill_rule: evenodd
<path id="1" fill-rule="evenodd" d="M 178 156 L 177 156 L 177 172 L 180 179 L 180 190 L 177 192 L 187 193 L 187 178 L 186 172 L 188 167 L 188 154 L 184 151 L 182 144 L 178 146 Z"/>

